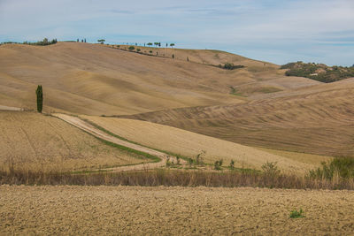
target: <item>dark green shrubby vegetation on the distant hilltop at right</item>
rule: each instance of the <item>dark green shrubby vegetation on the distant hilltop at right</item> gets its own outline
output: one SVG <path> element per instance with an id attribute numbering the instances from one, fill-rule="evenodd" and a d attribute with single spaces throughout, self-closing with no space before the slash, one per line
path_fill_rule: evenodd
<path id="1" fill-rule="evenodd" d="M 288 69 L 287 76 L 299 76 L 312 80 L 330 83 L 354 77 L 354 66 L 327 66 L 324 64 L 303 63 L 301 61 L 281 65 L 281 69 Z"/>

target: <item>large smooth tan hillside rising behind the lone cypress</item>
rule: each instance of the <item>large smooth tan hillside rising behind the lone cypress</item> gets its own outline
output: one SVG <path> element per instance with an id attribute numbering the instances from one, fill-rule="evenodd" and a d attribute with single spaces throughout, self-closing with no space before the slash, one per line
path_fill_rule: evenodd
<path id="1" fill-rule="evenodd" d="M 164 49 L 159 49 L 164 50 Z M 289 78 L 278 65 L 214 50 L 165 49 L 170 57 L 58 42 L 50 46 L 0 46 L 0 104 L 35 108 L 42 84 L 44 111 L 87 115 L 129 115 L 183 107 L 243 103 L 318 82 Z M 187 62 L 181 57 L 189 57 Z M 199 59 L 198 59 L 199 58 Z M 231 61 L 232 71 L 212 65 Z"/>

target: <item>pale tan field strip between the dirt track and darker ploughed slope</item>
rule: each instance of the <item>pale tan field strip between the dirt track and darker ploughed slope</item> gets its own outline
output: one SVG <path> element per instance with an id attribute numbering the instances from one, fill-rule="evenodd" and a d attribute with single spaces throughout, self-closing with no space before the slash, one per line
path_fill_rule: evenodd
<path id="1" fill-rule="evenodd" d="M 205 151 L 202 158 L 205 163 L 213 164 L 223 159 L 225 165 L 231 160 L 236 166 L 260 169 L 266 162 L 277 162 L 282 170 L 305 171 L 315 168 L 327 157 L 313 159 L 312 162 L 296 160 L 250 148 L 231 141 L 223 141 L 199 133 L 192 133 L 171 126 L 162 126 L 146 121 L 127 118 L 101 118 L 81 116 L 112 133 L 135 141 L 150 148 L 158 148 L 174 154 L 195 158 Z"/>

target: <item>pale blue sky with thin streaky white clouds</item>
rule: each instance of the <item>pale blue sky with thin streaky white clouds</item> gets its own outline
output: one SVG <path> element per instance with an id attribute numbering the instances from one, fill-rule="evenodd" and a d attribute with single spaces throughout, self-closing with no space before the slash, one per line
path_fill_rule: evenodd
<path id="1" fill-rule="evenodd" d="M 354 65 L 354 0 L 0 0 L 0 42 L 86 38 Z"/>

